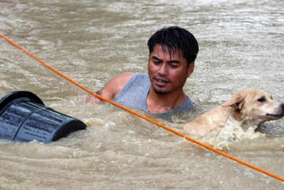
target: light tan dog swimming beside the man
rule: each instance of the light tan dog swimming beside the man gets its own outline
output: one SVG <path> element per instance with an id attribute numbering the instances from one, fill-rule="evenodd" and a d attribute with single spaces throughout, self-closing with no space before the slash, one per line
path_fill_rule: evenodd
<path id="1" fill-rule="evenodd" d="M 283 116 L 284 104 L 278 104 L 264 91 L 248 89 L 239 91 L 231 100 L 196 117 L 183 127 L 204 136 L 208 131 L 223 127 L 230 118 L 240 121 L 242 128 L 245 128 L 259 126 L 265 121 L 281 119 Z"/>

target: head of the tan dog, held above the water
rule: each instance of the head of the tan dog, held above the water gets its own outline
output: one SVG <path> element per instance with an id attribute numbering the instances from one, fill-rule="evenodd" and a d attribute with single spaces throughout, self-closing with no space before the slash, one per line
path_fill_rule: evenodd
<path id="1" fill-rule="evenodd" d="M 244 120 L 247 125 L 259 125 L 284 116 L 284 104 L 278 104 L 270 94 L 261 90 L 241 90 L 222 106 L 232 107 L 232 117 Z"/>

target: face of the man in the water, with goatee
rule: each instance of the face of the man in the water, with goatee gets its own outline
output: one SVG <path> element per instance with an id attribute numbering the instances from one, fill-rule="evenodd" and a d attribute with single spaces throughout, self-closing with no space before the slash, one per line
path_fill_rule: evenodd
<path id="1" fill-rule="evenodd" d="M 165 95 L 182 90 L 187 77 L 194 71 L 194 62 L 187 69 L 183 52 L 165 52 L 160 44 L 155 44 L 148 60 L 148 74 L 155 93 Z"/>

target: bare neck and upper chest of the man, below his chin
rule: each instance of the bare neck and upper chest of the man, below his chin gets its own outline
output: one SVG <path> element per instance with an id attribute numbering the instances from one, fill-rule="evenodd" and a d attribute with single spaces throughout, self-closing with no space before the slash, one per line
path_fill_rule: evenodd
<path id="1" fill-rule="evenodd" d="M 153 90 L 150 90 L 146 104 L 150 112 L 160 113 L 167 112 L 181 105 L 187 100 L 187 95 L 183 91 L 179 93 L 169 93 L 165 95 L 159 95 Z"/>

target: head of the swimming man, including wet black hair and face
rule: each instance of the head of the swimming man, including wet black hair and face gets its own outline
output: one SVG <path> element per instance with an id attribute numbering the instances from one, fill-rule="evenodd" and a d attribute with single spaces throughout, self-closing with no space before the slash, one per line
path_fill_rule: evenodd
<path id="1" fill-rule="evenodd" d="M 199 46 L 190 32 L 173 26 L 162 28 L 148 40 L 150 93 L 181 95 L 184 83 L 194 71 Z"/>

